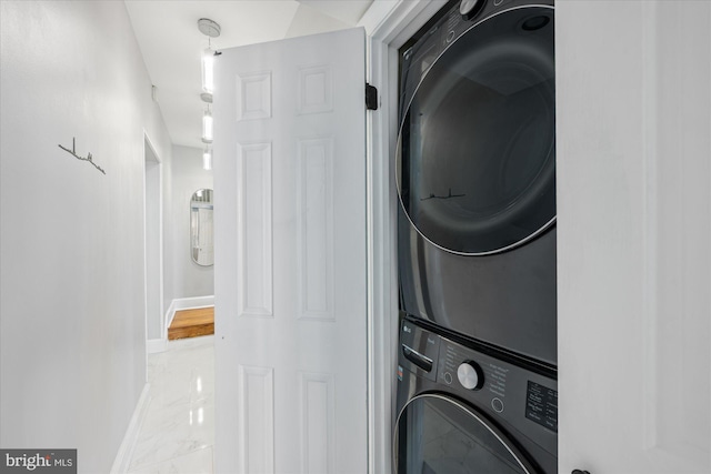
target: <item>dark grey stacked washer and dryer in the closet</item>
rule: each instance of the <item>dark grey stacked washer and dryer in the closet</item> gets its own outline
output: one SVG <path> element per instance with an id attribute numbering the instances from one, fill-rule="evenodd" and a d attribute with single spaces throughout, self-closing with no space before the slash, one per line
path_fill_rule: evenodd
<path id="1" fill-rule="evenodd" d="M 398 474 L 557 472 L 553 20 L 452 1 L 401 51 Z"/>

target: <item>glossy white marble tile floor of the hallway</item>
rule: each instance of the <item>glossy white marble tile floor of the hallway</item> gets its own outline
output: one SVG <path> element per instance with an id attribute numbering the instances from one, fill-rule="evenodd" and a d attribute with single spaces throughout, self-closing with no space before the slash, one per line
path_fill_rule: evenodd
<path id="1" fill-rule="evenodd" d="M 214 336 L 148 356 L 148 407 L 128 474 L 212 474 Z"/>

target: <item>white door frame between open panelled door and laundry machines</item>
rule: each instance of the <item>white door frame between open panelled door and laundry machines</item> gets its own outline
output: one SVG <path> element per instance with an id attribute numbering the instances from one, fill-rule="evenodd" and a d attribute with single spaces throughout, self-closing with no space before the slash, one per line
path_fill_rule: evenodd
<path id="1" fill-rule="evenodd" d="M 448 0 L 373 2 L 365 28 L 365 80 L 379 91 L 367 114 L 368 216 L 368 468 L 392 472 L 392 427 L 398 360 L 397 191 L 398 49 Z"/>

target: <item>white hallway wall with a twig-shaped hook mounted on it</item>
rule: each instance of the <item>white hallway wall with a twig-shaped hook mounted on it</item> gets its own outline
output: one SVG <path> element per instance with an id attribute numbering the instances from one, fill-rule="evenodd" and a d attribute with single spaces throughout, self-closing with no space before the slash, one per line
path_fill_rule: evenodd
<path id="1" fill-rule="evenodd" d="M 170 142 L 123 2 L 0 9 L 0 445 L 106 473 L 146 382 L 143 130 Z"/>

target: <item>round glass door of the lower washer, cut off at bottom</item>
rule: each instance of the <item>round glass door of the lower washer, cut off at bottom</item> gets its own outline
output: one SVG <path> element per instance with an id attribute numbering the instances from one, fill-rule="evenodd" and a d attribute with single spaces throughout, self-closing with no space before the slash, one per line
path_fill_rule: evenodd
<path id="1" fill-rule="evenodd" d="M 537 471 L 493 425 L 453 399 L 413 397 L 394 432 L 397 474 L 533 474 Z"/>

